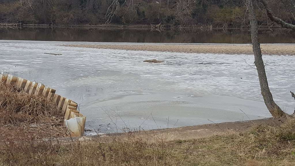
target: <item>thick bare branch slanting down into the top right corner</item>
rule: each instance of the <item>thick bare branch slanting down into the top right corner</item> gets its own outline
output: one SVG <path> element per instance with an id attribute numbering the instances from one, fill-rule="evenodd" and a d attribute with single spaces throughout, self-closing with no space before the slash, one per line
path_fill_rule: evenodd
<path id="1" fill-rule="evenodd" d="M 294 7 L 294 12 L 291 12 L 291 14 L 293 15 L 293 17 L 295 18 L 295 0 L 282 0 L 282 1 L 286 1 L 286 3 L 287 3 L 287 1 L 290 1 L 289 3 L 291 3 L 292 1 L 294 1 L 293 3 L 293 7 Z M 266 14 L 267 14 L 267 16 L 268 16 L 268 18 L 269 19 L 271 19 L 271 21 L 273 21 L 273 22 L 276 22 L 277 24 L 280 24 L 280 25 L 282 25 L 282 27 L 285 27 L 285 28 L 290 28 L 290 29 L 292 29 L 292 30 L 295 30 L 295 25 L 293 25 L 293 24 L 289 24 L 289 23 L 286 23 L 286 22 L 284 22 L 282 19 L 280 19 L 280 18 L 278 18 L 278 17 L 275 17 L 275 16 L 273 16 L 273 14 L 272 14 L 272 12 L 271 12 L 271 10 L 268 8 L 268 5 L 267 5 L 267 3 L 266 3 L 266 1 L 265 0 L 260 0 L 260 2 L 263 4 L 263 6 L 266 8 Z M 285 5 L 287 5 L 287 4 L 285 4 Z M 288 6 L 287 6 L 288 7 Z M 289 7 L 290 8 L 290 7 Z"/>

